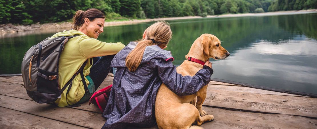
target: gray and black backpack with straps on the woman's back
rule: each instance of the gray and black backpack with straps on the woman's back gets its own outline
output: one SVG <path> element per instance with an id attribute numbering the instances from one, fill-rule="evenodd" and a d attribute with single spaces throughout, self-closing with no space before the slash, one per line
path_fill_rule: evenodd
<path id="1" fill-rule="evenodd" d="M 68 86 L 66 96 L 72 86 L 72 80 L 81 74 L 84 88 L 88 91 L 83 69 L 87 63 L 74 74 L 74 76 L 60 89 L 59 86 L 59 58 L 68 39 L 74 36 L 61 36 L 52 39 L 46 38 L 35 46 L 32 46 L 24 55 L 22 61 L 22 78 L 26 93 L 37 103 L 51 103 L 58 99 Z"/>

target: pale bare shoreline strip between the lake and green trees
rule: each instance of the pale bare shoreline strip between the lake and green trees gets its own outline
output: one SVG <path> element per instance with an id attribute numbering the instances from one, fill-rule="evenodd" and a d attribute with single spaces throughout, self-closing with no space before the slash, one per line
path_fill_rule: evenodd
<path id="1" fill-rule="evenodd" d="M 242 17 L 242 16 L 269 16 L 269 15 L 293 15 L 293 14 L 306 14 L 306 13 L 317 13 L 317 9 L 308 10 L 292 10 L 292 11 L 277 11 L 277 12 L 265 12 L 265 13 L 244 13 L 244 14 L 223 14 L 223 15 L 208 15 L 206 18 L 222 18 L 222 17 Z M 201 16 L 184 16 L 184 17 L 168 17 L 168 18 L 154 18 L 154 19 L 144 19 L 137 20 L 132 19 L 130 21 L 114 21 L 105 22 L 105 27 L 107 26 L 119 26 L 119 25 L 131 25 L 143 22 L 155 22 L 160 20 L 183 20 L 183 19 L 197 19 L 203 18 Z M 34 31 L 43 32 L 56 32 L 58 30 L 70 29 L 72 25 L 71 22 L 60 22 L 60 23 L 44 23 L 44 24 L 32 24 L 32 25 L 13 25 L 0 24 L 0 37 L 7 37 L 6 35 L 17 34 L 26 35 L 32 34 Z M 28 33 L 29 32 L 29 33 Z M 25 34 L 23 34 L 25 33 Z M 43 32 L 44 33 L 44 32 Z M 9 36 L 11 37 L 11 36 Z M 15 37 L 15 36 L 14 36 Z"/>

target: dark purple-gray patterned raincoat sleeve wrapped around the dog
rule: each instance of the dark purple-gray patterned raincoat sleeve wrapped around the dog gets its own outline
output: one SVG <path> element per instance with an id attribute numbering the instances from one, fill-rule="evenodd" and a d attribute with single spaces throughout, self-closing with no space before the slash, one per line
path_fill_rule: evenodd
<path id="1" fill-rule="evenodd" d="M 177 95 L 191 95 L 210 82 L 212 74 L 208 69 L 199 70 L 195 76 L 182 76 L 176 72 L 171 61 L 157 60 L 158 75 L 162 82 Z"/>

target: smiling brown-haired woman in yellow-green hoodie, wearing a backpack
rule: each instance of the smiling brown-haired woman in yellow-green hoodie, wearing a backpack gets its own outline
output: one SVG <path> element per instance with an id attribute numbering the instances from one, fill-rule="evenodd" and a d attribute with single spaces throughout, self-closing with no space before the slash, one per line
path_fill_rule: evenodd
<path id="1" fill-rule="evenodd" d="M 125 45 L 97 40 L 103 32 L 105 16 L 98 9 L 78 10 L 73 17 L 73 30 L 52 36 L 69 38 L 59 60 L 59 84 L 63 91 L 55 101 L 59 107 L 87 101 L 110 71 L 110 62 Z M 72 25 L 72 26 L 73 26 Z M 102 56 L 101 58 L 99 58 Z M 83 72 L 77 71 L 83 65 Z M 77 73 L 77 74 L 75 74 Z"/>

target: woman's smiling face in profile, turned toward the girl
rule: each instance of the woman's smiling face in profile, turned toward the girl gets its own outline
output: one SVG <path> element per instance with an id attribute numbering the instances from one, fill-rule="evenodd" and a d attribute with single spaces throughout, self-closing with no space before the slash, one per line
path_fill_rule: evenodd
<path id="1" fill-rule="evenodd" d="M 88 21 L 86 21 L 88 20 Z M 93 21 L 89 21 L 89 19 L 85 18 L 85 22 L 87 23 L 87 36 L 90 38 L 97 39 L 99 34 L 103 32 L 103 27 L 105 25 L 105 19 L 103 18 L 95 18 Z"/>

